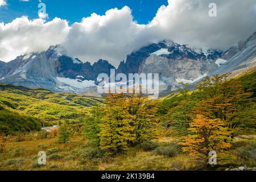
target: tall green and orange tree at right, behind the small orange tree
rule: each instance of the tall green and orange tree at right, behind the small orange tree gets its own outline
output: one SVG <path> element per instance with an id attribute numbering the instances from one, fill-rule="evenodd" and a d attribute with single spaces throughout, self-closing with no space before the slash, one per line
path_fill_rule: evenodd
<path id="1" fill-rule="evenodd" d="M 210 119 L 221 119 L 230 131 L 230 137 L 240 134 L 239 127 L 254 122 L 254 103 L 240 81 L 229 80 L 230 73 L 205 78 L 199 86 L 204 99 L 193 109 Z"/>

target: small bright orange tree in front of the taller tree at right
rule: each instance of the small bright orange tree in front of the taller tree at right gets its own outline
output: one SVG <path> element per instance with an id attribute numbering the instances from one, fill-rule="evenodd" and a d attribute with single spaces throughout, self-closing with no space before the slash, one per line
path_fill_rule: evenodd
<path id="1" fill-rule="evenodd" d="M 221 152 L 231 147 L 227 137 L 229 133 L 221 119 L 209 119 L 199 114 L 193 119 L 189 130 L 192 134 L 183 137 L 183 142 L 179 144 L 184 152 L 204 165 L 208 163 L 210 151 Z"/>

